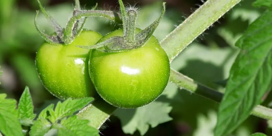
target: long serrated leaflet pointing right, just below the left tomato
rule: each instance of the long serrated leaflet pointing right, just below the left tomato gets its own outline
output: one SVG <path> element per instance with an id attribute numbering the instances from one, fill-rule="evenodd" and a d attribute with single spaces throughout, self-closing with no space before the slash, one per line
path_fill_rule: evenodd
<path id="1" fill-rule="evenodd" d="M 55 111 L 53 111 L 53 109 L 48 109 L 50 113 L 48 119 L 50 119 L 50 121 L 54 123 L 64 117 L 73 115 L 73 113 L 85 107 L 92 100 L 94 100 L 94 98 L 92 97 L 79 98 L 74 100 L 72 100 L 72 98 L 68 98 L 63 103 L 58 102 L 55 107 Z"/>

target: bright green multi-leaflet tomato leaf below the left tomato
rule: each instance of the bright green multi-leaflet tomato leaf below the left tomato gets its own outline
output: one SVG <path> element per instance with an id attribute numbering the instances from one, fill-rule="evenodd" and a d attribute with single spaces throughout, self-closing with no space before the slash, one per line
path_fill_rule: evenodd
<path id="1" fill-rule="evenodd" d="M 40 112 L 38 120 L 34 121 L 34 125 L 31 127 L 31 135 L 43 136 L 46 133 L 58 133 L 57 135 L 66 136 L 99 136 L 98 130 L 88 125 L 88 120 L 79 120 L 77 119 L 77 116 L 73 115 L 76 111 L 79 111 L 85 107 L 92 100 L 92 97 L 74 100 L 68 98 L 64 102 L 59 101 L 55 107 L 55 110 L 54 104 L 48 105 Z M 58 123 L 58 121 L 60 121 L 60 123 Z"/>

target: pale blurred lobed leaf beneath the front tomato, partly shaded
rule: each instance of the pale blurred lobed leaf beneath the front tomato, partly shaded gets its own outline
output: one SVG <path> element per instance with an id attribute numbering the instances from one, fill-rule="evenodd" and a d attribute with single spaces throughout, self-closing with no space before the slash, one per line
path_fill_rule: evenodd
<path id="1" fill-rule="evenodd" d="M 117 109 L 114 114 L 120 118 L 124 133 L 133 134 L 138 130 L 144 135 L 149 125 L 156 127 L 172 120 L 168 115 L 171 110 L 172 107 L 168 103 L 154 101 L 136 109 Z"/>

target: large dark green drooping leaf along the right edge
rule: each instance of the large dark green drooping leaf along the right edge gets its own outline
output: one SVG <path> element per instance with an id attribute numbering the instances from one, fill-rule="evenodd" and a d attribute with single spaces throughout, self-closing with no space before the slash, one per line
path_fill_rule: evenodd
<path id="1" fill-rule="evenodd" d="M 215 136 L 230 134 L 250 115 L 271 87 L 272 11 L 255 20 L 236 42 L 241 49 L 230 70 L 218 111 Z"/>

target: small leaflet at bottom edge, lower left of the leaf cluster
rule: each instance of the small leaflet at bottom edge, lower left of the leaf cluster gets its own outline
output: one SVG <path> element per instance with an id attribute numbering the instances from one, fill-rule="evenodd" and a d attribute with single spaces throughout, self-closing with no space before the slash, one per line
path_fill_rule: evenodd
<path id="1" fill-rule="evenodd" d="M 34 125 L 31 127 L 31 136 L 44 136 L 50 129 L 51 123 L 46 119 L 38 119 L 33 121 Z"/>

